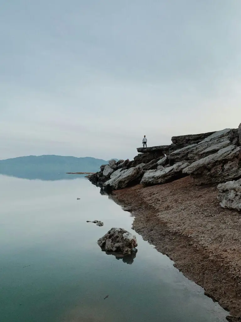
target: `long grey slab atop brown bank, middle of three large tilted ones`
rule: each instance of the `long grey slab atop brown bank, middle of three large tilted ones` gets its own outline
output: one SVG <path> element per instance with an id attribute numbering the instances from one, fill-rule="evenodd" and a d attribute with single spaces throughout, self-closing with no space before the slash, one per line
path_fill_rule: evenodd
<path id="1" fill-rule="evenodd" d="M 185 176 L 183 169 L 189 165 L 190 163 L 183 161 L 160 170 L 149 170 L 143 175 L 140 183 L 143 185 L 159 185 L 174 181 Z"/>

